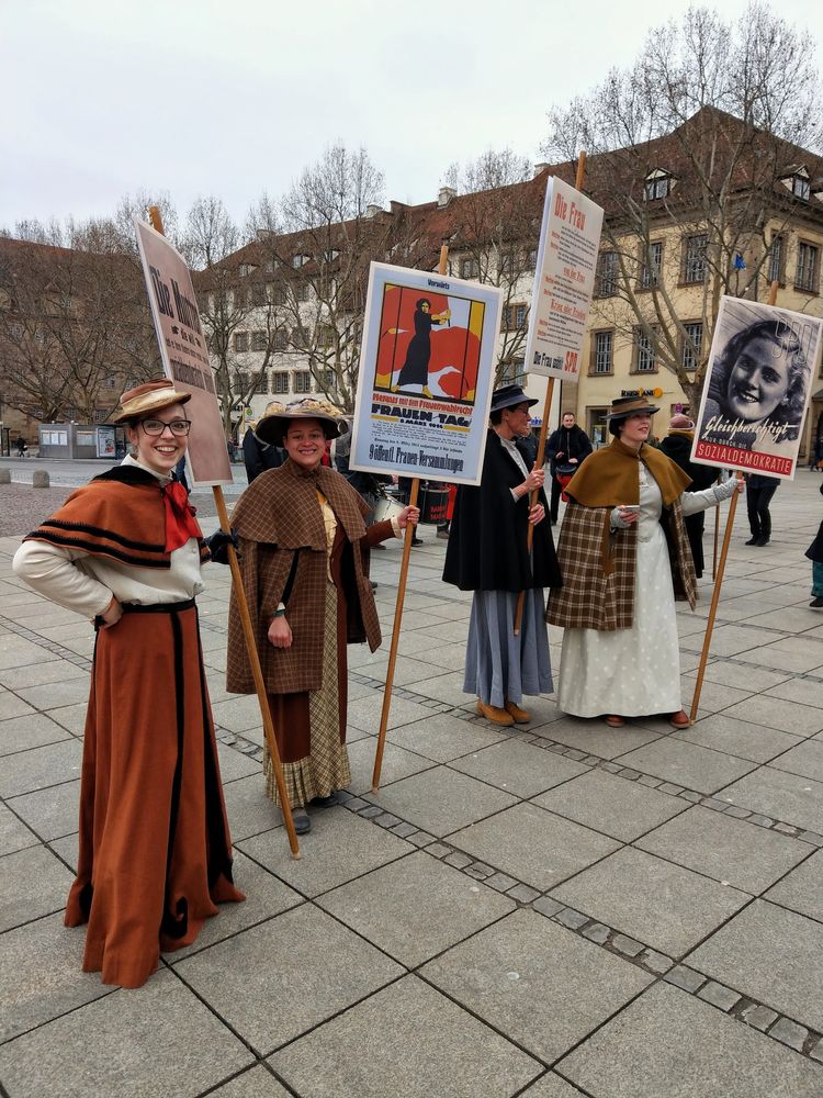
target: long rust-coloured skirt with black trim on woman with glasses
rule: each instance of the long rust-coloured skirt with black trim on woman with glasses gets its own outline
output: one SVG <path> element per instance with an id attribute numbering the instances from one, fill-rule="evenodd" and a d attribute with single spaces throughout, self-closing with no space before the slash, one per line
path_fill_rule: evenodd
<path id="1" fill-rule="evenodd" d="M 232 882 L 232 841 L 194 601 L 125 606 L 100 629 L 86 717 L 80 850 L 66 926 L 84 972 L 139 987 Z"/>

